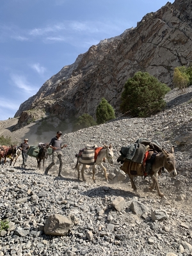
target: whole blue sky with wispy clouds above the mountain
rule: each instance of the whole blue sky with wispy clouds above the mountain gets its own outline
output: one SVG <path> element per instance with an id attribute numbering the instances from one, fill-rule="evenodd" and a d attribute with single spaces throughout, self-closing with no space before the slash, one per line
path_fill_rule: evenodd
<path id="1" fill-rule="evenodd" d="M 118 36 L 167 0 L 3 0 L 0 8 L 0 120 L 79 54 Z M 173 1 L 170 1 L 173 3 Z"/>

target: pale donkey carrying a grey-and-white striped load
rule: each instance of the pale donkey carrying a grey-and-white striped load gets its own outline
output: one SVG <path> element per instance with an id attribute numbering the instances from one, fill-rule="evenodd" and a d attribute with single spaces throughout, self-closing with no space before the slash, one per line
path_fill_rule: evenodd
<path id="1" fill-rule="evenodd" d="M 104 177 L 106 178 L 106 180 L 108 181 L 108 175 L 106 172 L 106 168 L 104 167 L 104 165 L 102 164 L 102 162 L 104 161 L 104 159 L 108 159 L 108 162 L 110 164 L 114 163 L 113 160 L 113 147 L 111 146 L 111 144 L 109 145 L 109 147 L 107 145 L 104 145 L 104 147 L 93 147 L 92 149 L 90 148 L 90 151 L 92 151 L 91 155 L 88 153 L 87 157 L 82 157 L 81 156 L 81 152 L 87 153 L 88 149 L 84 148 L 83 150 L 79 150 L 80 154 L 76 154 L 77 157 L 77 163 L 76 163 L 76 169 L 78 172 L 78 180 L 80 179 L 80 166 L 81 164 L 83 164 L 83 167 L 81 169 L 81 175 L 82 175 L 82 179 L 83 181 L 86 181 L 86 179 L 84 178 L 84 169 L 90 168 L 93 171 L 93 182 L 95 182 L 95 165 L 99 165 L 102 170 L 104 171 Z"/>

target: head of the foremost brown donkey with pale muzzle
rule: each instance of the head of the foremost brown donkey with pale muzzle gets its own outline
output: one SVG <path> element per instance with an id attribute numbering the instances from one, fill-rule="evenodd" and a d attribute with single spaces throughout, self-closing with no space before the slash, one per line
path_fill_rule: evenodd
<path id="1" fill-rule="evenodd" d="M 177 176 L 177 171 L 175 167 L 175 157 L 174 157 L 174 147 L 171 148 L 170 152 L 162 149 L 162 153 L 164 154 L 164 168 L 170 173 L 172 177 Z"/>

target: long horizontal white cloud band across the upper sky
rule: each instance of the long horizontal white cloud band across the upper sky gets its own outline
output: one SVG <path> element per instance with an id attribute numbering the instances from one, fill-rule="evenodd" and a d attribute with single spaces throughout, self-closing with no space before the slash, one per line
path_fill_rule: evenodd
<path id="1" fill-rule="evenodd" d="M 97 42 L 104 38 L 110 38 L 111 35 L 120 35 L 124 32 L 120 29 L 126 28 L 128 25 L 125 25 L 125 21 L 122 20 L 113 20 L 113 22 L 111 20 L 84 20 L 83 22 L 63 20 L 34 29 L 20 29 L 15 25 L 0 25 L 0 42 L 6 42 L 12 38 L 20 42 L 38 40 L 44 44 L 67 42 L 76 45 L 78 42 L 79 45 L 87 45 L 89 40 Z"/>

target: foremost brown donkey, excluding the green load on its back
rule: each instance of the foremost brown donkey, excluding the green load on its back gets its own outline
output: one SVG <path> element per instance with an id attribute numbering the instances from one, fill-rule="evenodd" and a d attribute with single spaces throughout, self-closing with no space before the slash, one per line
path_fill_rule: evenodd
<path id="1" fill-rule="evenodd" d="M 155 187 L 157 189 L 157 193 L 161 198 L 163 198 L 164 194 L 159 189 L 159 183 L 157 180 L 158 173 L 162 168 L 165 168 L 172 177 L 177 175 L 177 171 L 175 168 L 175 157 L 173 155 L 174 147 L 171 148 L 170 152 L 164 150 L 162 148 L 161 152 L 157 153 L 153 157 L 153 161 L 151 162 L 151 169 L 147 175 L 150 175 L 152 178 L 152 185 L 150 186 L 150 191 L 152 191 Z M 136 186 L 134 184 L 134 177 L 143 176 L 143 164 L 132 163 L 131 161 L 124 161 L 124 164 L 120 167 L 125 173 L 129 175 L 131 179 L 132 189 L 136 190 Z"/>

